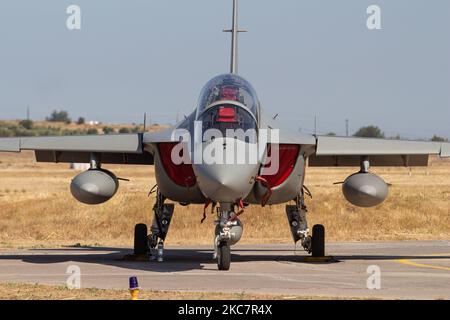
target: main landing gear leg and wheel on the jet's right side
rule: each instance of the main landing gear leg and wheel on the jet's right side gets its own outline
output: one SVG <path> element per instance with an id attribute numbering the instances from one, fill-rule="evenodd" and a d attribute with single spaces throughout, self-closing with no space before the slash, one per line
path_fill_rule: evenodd
<path id="1" fill-rule="evenodd" d="M 286 214 L 291 227 L 294 242 L 300 241 L 306 252 L 311 253 L 314 258 L 325 256 L 325 227 L 315 225 L 312 235 L 309 235 L 308 221 L 306 213 L 304 192 L 297 196 L 295 205 L 286 206 Z"/>

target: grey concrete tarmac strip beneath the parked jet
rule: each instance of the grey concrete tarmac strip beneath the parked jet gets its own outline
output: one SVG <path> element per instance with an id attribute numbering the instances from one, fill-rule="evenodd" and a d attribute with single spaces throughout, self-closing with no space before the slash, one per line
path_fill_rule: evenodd
<path id="1" fill-rule="evenodd" d="M 450 241 L 332 243 L 328 262 L 308 261 L 294 245 L 241 245 L 232 250 L 230 271 L 217 270 L 210 247 L 168 247 L 162 263 L 120 260 L 127 253 L 1 249 L 0 282 L 64 286 L 68 267 L 76 265 L 83 288 L 127 289 L 128 278 L 137 276 L 143 290 L 450 299 Z"/>

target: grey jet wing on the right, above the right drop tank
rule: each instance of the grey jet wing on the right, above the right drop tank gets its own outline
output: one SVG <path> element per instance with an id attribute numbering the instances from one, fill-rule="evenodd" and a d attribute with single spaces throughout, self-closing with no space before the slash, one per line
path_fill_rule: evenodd
<path id="1" fill-rule="evenodd" d="M 450 143 L 318 136 L 309 166 L 427 166 L 430 155 L 450 157 Z"/>

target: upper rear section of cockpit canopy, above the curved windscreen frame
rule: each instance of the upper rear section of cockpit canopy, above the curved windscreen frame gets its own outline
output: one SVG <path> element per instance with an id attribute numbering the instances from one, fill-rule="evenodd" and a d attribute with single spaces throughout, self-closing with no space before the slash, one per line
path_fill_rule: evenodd
<path id="1" fill-rule="evenodd" d="M 235 101 L 258 118 L 259 101 L 252 85 L 244 78 L 235 74 L 224 74 L 210 80 L 202 92 L 197 110 L 197 119 L 208 108 L 219 101 Z"/>

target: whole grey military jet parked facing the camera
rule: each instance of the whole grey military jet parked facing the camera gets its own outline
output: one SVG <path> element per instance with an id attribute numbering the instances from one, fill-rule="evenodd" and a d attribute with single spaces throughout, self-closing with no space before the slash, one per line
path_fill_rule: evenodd
<path id="1" fill-rule="evenodd" d="M 157 132 L 100 136 L 0 139 L 0 151 L 34 150 L 38 162 L 89 163 L 70 185 L 80 202 L 97 205 L 113 197 L 119 178 L 104 164 L 154 165 L 157 185 L 151 232 L 135 228 L 134 252 L 162 261 L 174 204 L 211 207 L 214 257 L 229 270 L 230 247 L 242 235 L 239 215 L 248 205 L 286 205 L 295 242 L 313 256 L 325 255 L 325 230 L 310 233 L 304 186 L 306 167 L 359 166 L 342 184 L 353 205 L 380 205 L 388 185 L 370 166 L 427 166 L 429 155 L 450 157 L 450 143 L 328 137 L 290 131 L 262 109 L 252 85 L 237 74 L 237 0 L 233 0 L 231 68 L 210 80 L 196 109 L 173 128 Z M 230 134 L 231 133 L 231 134 Z M 171 204 L 166 204 L 171 200 Z"/>

